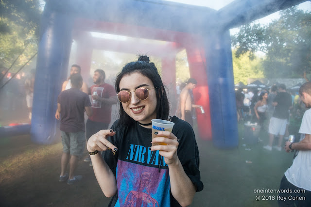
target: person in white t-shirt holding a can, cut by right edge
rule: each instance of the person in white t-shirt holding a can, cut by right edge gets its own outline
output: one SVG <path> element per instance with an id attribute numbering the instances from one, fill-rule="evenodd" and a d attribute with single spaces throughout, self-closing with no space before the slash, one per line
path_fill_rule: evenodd
<path id="1" fill-rule="evenodd" d="M 285 172 L 280 184 L 278 205 L 307 207 L 311 205 L 311 82 L 304 83 L 299 96 L 308 110 L 302 118 L 299 133 L 305 138 L 298 143 L 285 143 L 286 152 L 298 150 L 292 166 Z"/>

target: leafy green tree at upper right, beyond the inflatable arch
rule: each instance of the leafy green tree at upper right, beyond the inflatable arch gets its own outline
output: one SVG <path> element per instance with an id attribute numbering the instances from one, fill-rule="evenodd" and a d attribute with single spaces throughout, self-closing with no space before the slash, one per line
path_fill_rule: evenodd
<path id="1" fill-rule="evenodd" d="M 248 24 L 232 37 L 236 57 L 255 58 L 264 52 L 265 77 L 298 78 L 311 75 L 311 13 L 297 6 L 280 11 L 280 17 L 268 24 Z"/>

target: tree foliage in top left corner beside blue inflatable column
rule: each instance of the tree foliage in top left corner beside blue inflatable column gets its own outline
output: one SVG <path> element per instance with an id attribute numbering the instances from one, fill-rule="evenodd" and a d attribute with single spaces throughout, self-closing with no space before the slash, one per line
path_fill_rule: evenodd
<path id="1" fill-rule="evenodd" d="M 42 9 L 39 0 L 0 1 L 0 64 L 12 71 L 25 64 L 37 50 Z"/>

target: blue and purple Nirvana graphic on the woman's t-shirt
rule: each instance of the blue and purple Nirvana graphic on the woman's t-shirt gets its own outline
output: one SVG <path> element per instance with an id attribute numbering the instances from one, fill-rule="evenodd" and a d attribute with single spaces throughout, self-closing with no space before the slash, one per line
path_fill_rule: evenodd
<path id="1" fill-rule="evenodd" d="M 150 147 L 130 144 L 127 156 L 118 160 L 117 185 L 120 206 L 170 206 L 168 165 L 158 151 Z M 147 164 L 144 166 L 141 164 Z M 158 165 L 165 167 L 160 173 Z M 118 205 L 116 205 L 118 206 Z"/>

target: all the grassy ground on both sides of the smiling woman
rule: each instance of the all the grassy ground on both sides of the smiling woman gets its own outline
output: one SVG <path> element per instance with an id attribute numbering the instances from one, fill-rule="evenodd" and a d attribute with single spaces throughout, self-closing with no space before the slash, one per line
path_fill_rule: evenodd
<path id="1" fill-rule="evenodd" d="M 243 130 L 239 125 L 239 146 L 230 150 L 197 137 L 204 190 L 196 193 L 191 207 L 277 206 L 276 199 L 262 200 L 276 193 L 254 190 L 277 190 L 293 153 L 264 150 L 268 142 L 264 132 L 262 142 L 244 146 Z M 85 177 L 81 182 L 74 186 L 58 182 L 61 153 L 61 143 L 37 145 L 29 135 L 0 138 L 0 206 L 107 206 L 110 199 L 102 193 L 88 162 L 79 161 L 77 173 Z"/>

